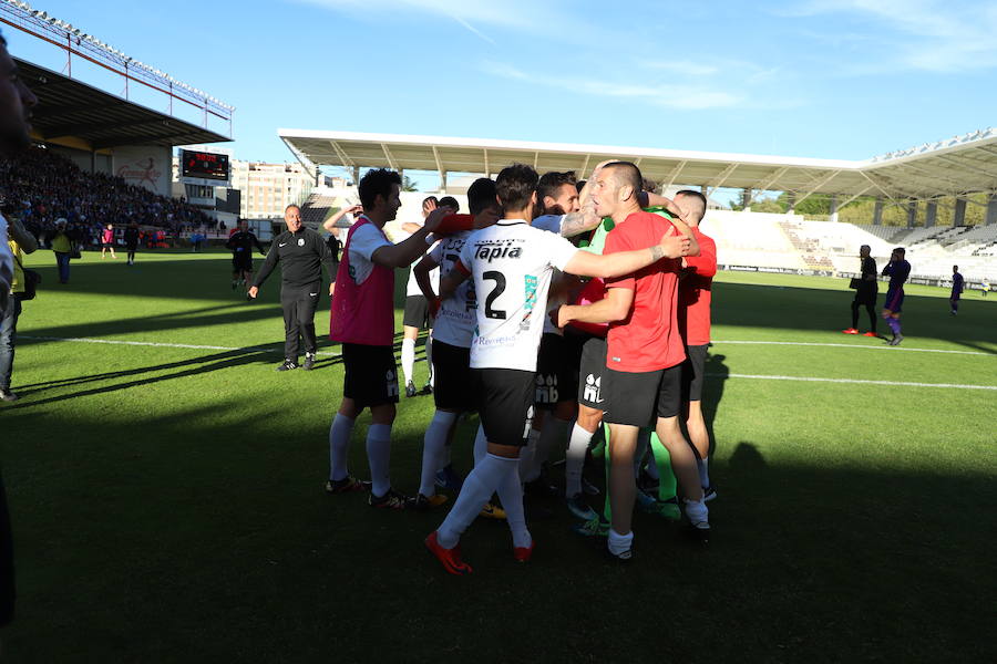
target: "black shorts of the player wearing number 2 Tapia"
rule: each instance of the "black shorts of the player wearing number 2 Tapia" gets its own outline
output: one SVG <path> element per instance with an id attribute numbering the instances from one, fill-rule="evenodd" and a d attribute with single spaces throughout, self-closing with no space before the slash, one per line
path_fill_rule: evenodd
<path id="1" fill-rule="evenodd" d="M 533 424 L 533 382 L 536 374 L 516 369 L 472 369 L 471 392 L 489 443 L 526 445 Z"/>

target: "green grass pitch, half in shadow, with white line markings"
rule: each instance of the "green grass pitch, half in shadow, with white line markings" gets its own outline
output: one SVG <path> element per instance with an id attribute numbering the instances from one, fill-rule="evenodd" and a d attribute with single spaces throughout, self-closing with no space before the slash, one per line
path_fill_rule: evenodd
<path id="1" fill-rule="evenodd" d="M 995 295 L 967 293 L 952 317 L 946 291 L 909 287 L 906 341 L 888 349 L 840 333 L 845 280 L 721 273 L 710 544 L 638 515 L 635 561 L 607 564 L 551 502 L 531 563 L 513 561 L 503 522 L 477 522 L 463 543 L 475 573 L 459 579 L 422 546 L 443 511 L 323 494 L 341 366 L 323 341 L 317 371 L 274 371 L 279 276 L 247 303 L 224 253 L 140 253 L 131 268 L 86 253 L 69 286 L 51 252 L 27 262 L 44 283 L 20 320 L 22 398 L 0 405 L 19 589 L 4 661 L 997 656 Z M 320 338 L 328 319 L 323 298 Z M 732 343 L 758 341 L 815 345 Z M 400 404 L 403 491 L 432 411 L 430 396 Z M 361 477 L 369 422 L 351 448 Z M 454 444 L 462 471 L 474 427 Z"/>

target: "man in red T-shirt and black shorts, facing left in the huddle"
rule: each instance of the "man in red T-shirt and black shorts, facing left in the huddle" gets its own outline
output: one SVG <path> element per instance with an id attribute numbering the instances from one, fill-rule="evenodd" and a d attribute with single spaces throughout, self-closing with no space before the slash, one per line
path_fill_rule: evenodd
<path id="1" fill-rule="evenodd" d="M 691 229 L 681 220 L 687 217 L 672 205 L 669 211 L 678 219 L 641 210 L 640 170 L 634 164 L 616 162 L 606 165 L 597 176 L 593 197 L 600 216 L 615 221 L 606 237 L 604 253 L 631 250 L 647 238 L 682 238 L 685 249 L 676 258 L 661 260 L 648 268 L 606 281 L 607 294 L 594 304 L 562 307 L 561 324 L 572 321 L 608 322 L 606 370 L 602 392 L 609 406 L 604 421 L 609 424 L 609 496 L 611 527 L 608 531 L 609 553 L 619 560 L 633 558 L 633 510 L 637 494 L 634 457 L 641 427 L 656 430 L 668 449 L 672 468 L 685 492 L 686 515 L 696 530 L 709 532 L 708 509 L 696 455 L 679 427 L 681 413 L 681 364 L 686 359 L 678 325 L 678 273 L 682 256 L 698 256 L 699 247 Z M 671 203 L 671 201 L 669 201 Z M 584 378 L 584 376 L 583 376 Z"/>

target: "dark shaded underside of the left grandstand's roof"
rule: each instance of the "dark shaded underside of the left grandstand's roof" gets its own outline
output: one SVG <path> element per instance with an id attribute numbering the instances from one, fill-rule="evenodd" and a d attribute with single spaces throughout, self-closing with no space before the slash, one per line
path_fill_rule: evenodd
<path id="1" fill-rule="evenodd" d="M 93 149 L 119 145 L 188 145 L 230 141 L 189 122 L 103 92 L 45 68 L 14 58 L 38 97 L 31 124 L 44 141 L 72 136 Z"/>

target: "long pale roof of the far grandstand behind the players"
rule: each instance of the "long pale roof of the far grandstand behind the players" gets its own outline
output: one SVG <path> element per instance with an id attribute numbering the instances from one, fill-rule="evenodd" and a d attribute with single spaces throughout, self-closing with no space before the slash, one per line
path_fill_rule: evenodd
<path id="1" fill-rule="evenodd" d="M 646 177 L 666 187 L 791 191 L 798 203 L 813 194 L 835 194 L 843 197 L 840 205 L 859 196 L 901 201 L 997 190 L 994 129 L 862 162 L 307 129 L 278 129 L 278 135 L 306 166 L 491 175 L 521 162 L 541 172 L 587 174 L 604 159 L 623 158 L 635 162 Z"/>

